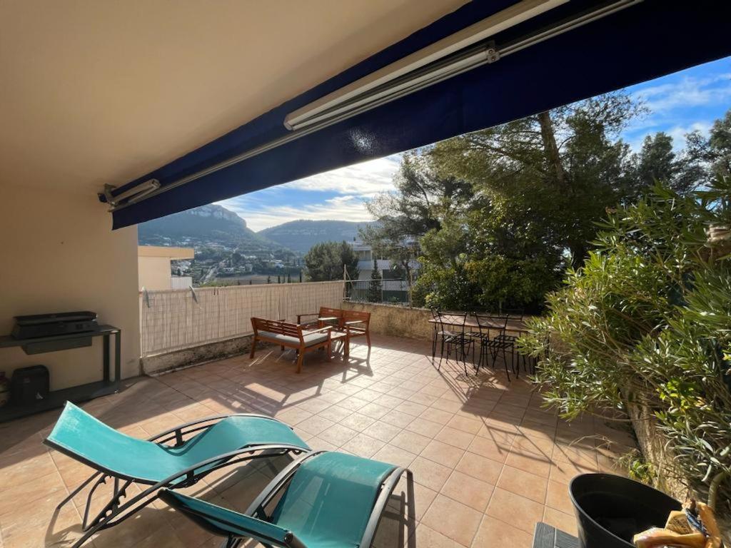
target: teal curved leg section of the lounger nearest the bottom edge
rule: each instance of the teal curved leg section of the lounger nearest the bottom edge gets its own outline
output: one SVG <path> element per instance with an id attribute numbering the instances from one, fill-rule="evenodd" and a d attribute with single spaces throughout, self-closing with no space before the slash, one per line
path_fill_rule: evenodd
<path id="1" fill-rule="evenodd" d="M 395 466 L 327 452 L 307 459 L 289 484 L 273 522 L 309 548 L 353 548 L 360 543 L 379 487 Z"/>

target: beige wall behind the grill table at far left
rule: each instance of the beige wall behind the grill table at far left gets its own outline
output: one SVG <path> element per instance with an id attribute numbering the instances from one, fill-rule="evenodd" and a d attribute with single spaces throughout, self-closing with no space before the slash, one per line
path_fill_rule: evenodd
<path id="1" fill-rule="evenodd" d="M 91 310 L 122 330 L 122 376 L 140 372 L 137 228 L 111 230 L 93 193 L 29 189 L 0 182 L 0 334 L 12 316 Z M 42 364 L 51 389 L 102 375 L 101 338 L 84 349 L 26 356 L 0 349 L 0 371 Z"/>

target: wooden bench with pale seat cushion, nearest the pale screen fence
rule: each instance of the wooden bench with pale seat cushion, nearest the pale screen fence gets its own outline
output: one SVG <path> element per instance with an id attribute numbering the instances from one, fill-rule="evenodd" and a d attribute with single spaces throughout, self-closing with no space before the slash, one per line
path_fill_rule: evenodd
<path id="1" fill-rule="evenodd" d="M 297 372 L 302 371 L 302 360 L 306 352 L 317 349 L 327 351 L 327 361 L 330 361 L 330 347 L 332 336 L 330 330 L 333 326 L 320 327 L 319 329 L 308 329 L 298 324 L 288 324 L 281 320 L 268 320 L 263 318 L 251 318 L 251 327 L 254 328 L 254 340 L 251 342 L 251 354 L 257 350 L 257 342 L 279 344 L 281 349 L 285 347 L 297 350 Z"/>

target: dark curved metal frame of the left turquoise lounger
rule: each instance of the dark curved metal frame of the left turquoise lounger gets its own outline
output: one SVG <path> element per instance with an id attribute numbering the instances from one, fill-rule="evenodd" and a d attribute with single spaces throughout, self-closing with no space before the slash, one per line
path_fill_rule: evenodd
<path id="1" fill-rule="evenodd" d="M 201 430 L 207 430 L 208 428 L 215 425 L 216 422 L 232 416 L 250 416 L 260 419 L 270 419 L 273 421 L 277 421 L 277 419 L 271 416 L 252 413 L 213 415 L 191 422 L 186 422 L 185 424 L 171 428 L 170 430 L 165 430 L 164 432 L 156 434 L 151 438 L 147 438 L 147 441 L 151 441 L 161 445 L 167 444 L 167 442 L 170 441 L 175 441 L 175 444 L 173 444 L 172 446 L 178 447 L 185 443 L 185 439 L 183 438 L 183 436 L 200 432 Z M 169 476 L 160 482 L 150 482 L 148 480 L 124 476 L 123 474 L 110 471 L 107 468 L 104 468 L 94 462 L 80 457 L 79 455 L 65 449 L 62 446 L 58 446 L 53 441 L 48 440 L 48 438 L 46 438 L 43 443 L 52 447 L 53 449 L 56 449 L 56 451 L 66 454 L 68 457 L 79 461 L 80 463 L 83 463 L 91 468 L 96 468 L 96 472 L 91 474 L 88 479 L 81 483 L 75 490 L 70 492 L 69 495 L 64 498 L 61 503 L 58 503 L 58 506 L 56 506 L 56 511 L 60 510 L 65 504 L 67 504 L 76 495 L 78 495 L 79 492 L 81 492 L 88 484 L 94 482 L 94 485 L 91 487 L 91 490 L 86 497 L 86 504 L 83 512 L 81 530 L 84 534 L 73 544 L 72 548 L 80 547 L 92 535 L 94 535 L 94 533 L 113 527 L 114 525 L 118 525 L 119 523 L 126 520 L 128 517 L 136 514 L 137 511 L 140 511 L 141 509 L 145 508 L 145 506 L 148 506 L 149 504 L 154 502 L 159 497 L 159 490 L 161 490 L 162 488 L 178 489 L 183 487 L 190 487 L 213 471 L 238 463 L 248 462 L 249 460 L 268 458 L 289 453 L 308 453 L 307 449 L 303 449 L 303 447 L 292 444 L 251 444 L 249 446 L 243 446 L 240 449 L 232 452 L 216 455 L 216 457 L 202 460 L 200 461 L 200 463 L 196 463 L 189 468 L 184 468 L 183 470 L 176 472 L 172 476 Z M 209 467 L 209 465 L 212 466 Z M 200 473 L 196 473 L 199 468 L 202 468 L 204 466 L 208 468 L 205 468 L 205 470 L 201 471 Z M 181 478 L 185 479 L 181 482 L 173 484 L 175 480 Z M 110 498 L 110 501 L 104 506 L 104 508 L 99 511 L 99 513 L 96 514 L 94 518 L 89 520 L 88 516 L 91 509 L 91 500 L 94 496 L 94 492 L 100 485 L 106 484 L 107 479 L 114 480 L 113 495 Z M 123 499 L 126 498 L 126 489 L 132 483 L 149 485 L 150 487 L 142 490 L 140 494 L 130 498 L 129 501 L 123 503 Z"/>

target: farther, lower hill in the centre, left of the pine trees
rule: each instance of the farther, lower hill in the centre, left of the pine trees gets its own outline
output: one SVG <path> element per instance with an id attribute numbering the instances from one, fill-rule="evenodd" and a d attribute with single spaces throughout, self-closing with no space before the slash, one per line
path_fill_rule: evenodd
<path id="1" fill-rule="evenodd" d="M 373 222 L 373 221 L 371 221 Z M 358 229 L 371 222 L 352 221 L 289 221 L 276 227 L 260 230 L 258 235 L 279 243 L 292 251 L 307 253 L 316 243 L 328 241 L 352 241 L 358 237 Z"/>

